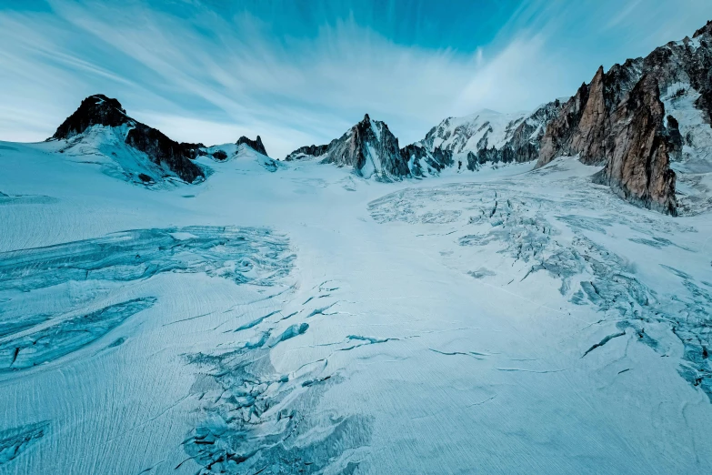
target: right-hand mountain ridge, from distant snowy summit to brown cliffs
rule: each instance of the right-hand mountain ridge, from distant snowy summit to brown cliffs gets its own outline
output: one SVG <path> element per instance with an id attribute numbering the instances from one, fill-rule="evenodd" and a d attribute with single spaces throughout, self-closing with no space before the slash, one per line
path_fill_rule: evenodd
<path id="1" fill-rule="evenodd" d="M 603 67 L 570 99 L 533 113 L 448 117 L 419 142 L 475 170 L 487 162 L 577 156 L 595 178 L 643 207 L 677 214 L 712 207 L 712 24 L 645 58 Z M 676 174 L 677 171 L 677 174 Z M 677 180 L 681 188 L 677 190 Z"/>

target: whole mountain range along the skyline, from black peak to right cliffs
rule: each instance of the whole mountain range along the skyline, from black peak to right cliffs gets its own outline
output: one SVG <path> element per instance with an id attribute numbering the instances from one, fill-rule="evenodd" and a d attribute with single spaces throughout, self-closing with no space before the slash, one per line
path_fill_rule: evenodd
<path id="1" fill-rule="evenodd" d="M 556 157 L 577 156 L 601 167 L 593 179 L 618 196 L 677 215 L 712 207 L 711 121 L 712 22 L 707 22 L 692 37 L 662 45 L 646 57 L 627 59 L 608 71 L 599 67 L 574 96 L 533 112 L 483 110 L 448 117 L 405 147 L 386 123 L 366 114 L 343 136 L 326 145 L 299 147 L 284 160 L 318 160 L 350 167 L 358 177 L 390 182 L 447 169 L 475 171 L 486 164 L 544 167 Z M 175 142 L 103 95 L 82 101 L 51 139 L 64 140 L 63 151 L 112 144 L 109 153 L 125 175 L 144 184 L 171 177 L 202 181 L 206 173 L 193 162 L 197 156 L 225 160 L 230 155 L 230 147 Z M 267 156 L 260 136 L 240 137 L 235 145 Z"/>

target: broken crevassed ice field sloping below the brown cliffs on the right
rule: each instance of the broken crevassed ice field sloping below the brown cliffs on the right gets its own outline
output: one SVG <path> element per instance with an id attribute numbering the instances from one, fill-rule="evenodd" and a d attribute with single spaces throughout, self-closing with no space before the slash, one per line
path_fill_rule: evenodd
<path id="1" fill-rule="evenodd" d="M 539 177 L 555 172 L 556 168 L 544 169 Z M 607 199 L 586 179 L 558 181 L 557 187 L 564 190 L 557 197 L 537 192 L 538 173 L 530 174 L 535 183 L 526 186 L 506 179 L 409 188 L 373 201 L 369 211 L 383 224 L 443 227 L 446 246 L 460 248 L 460 262 L 453 264 L 456 268 L 465 270 L 463 256 L 471 259 L 474 268 L 486 253 L 505 256 L 516 277 L 503 285 L 515 281 L 526 285 L 526 279 L 539 272 L 557 279 L 560 293 L 571 303 L 596 308 L 602 322 L 617 322 L 618 329 L 590 343 L 583 356 L 624 335 L 647 344 L 660 356 L 669 356 L 667 343 L 660 339 L 676 336 L 685 348 L 680 375 L 712 400 L 712 368 L 707 358 L 712 348 L 712 285 L 665 265 L 661 265 L 667 271 L 664 281 L 647 278 L 627 258 L 601 244 L 609 234 L 627 228 L 626 233 L 639 235 L 629 238 L 637 245 L 692 252 L 664 236 L 679 237 L 696 229 L 650 213 L 631 212 L 631 207 Z M 602 209 L 589 212 L 582 207 L 591 200 L 602 203 Z M 461 216 L 458 210 L 463 210 Z M 441 255 L 452 252 L 441 251 Z M 496 276 L 487 268 L 466 272 L 478 279 Z M 675 290 L 680 285 L 683 290 Z"/>

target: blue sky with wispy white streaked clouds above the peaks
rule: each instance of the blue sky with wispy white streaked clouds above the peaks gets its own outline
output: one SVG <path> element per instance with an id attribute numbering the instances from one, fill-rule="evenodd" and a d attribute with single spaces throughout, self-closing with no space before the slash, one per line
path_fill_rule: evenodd
<path id="1" fill-rule="evenodd" d="M 274 157 L 365 113 L 405 145 L 570 96 L 707 19 L 709 0 L 2 0 L 0 140 L 51 136 L 103 93 L 176 140 L 259 134 Z"/>

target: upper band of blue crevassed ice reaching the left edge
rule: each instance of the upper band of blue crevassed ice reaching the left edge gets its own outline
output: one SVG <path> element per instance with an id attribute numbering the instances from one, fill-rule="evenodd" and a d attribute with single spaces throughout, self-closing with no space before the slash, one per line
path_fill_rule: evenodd
<path id="1" fill-rule="evenodd" d="M 47 288 L 67 280 L 130 281 L 161 272 L 205 272 L 268 285 L 289 272 L 286 239 L 264 228 L 137 229 L 105 238 L 0 255 L 0 290 Z"/>

